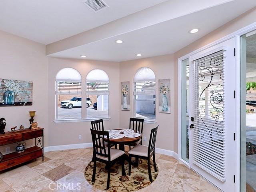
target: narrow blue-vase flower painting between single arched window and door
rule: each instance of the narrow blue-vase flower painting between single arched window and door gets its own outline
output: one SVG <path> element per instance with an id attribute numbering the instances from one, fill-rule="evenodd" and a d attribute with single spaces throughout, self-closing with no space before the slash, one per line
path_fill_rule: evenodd
<path id="1" fill-rule="evenodd" d="M 171 113 L 170 79 L 158 80 L 159 86 L 159 112 Z"/>

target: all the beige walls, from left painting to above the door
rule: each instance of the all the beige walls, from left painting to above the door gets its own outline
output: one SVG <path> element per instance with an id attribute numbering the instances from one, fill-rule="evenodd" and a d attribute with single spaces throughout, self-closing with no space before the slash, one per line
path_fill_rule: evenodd
<path id="1" fill-rule="evenodd" d="M 91 142 L 90 122 L 53 122 L 55 118 L 55 76 L 64 67 L 77 69 L 82 74 L 83 84 L 90 70 L 99 68 L 106 71 L 110 78 L 111 119 L 105 121 L 104 125 L 106 129 L 128 128 L 129 118 L 134 116 L 134 106 L 131 106 L 130 111 L 120 110 L 120 82 L 130 81 L 130 90 L 132 90 L 134 74 L 140 67 L 148 66 L 155 72 L 156 81 L 164 78 L 171 79 L 171 114 L 160 114 L 156 107 L 157 122 L 145 124 L 144 136 L 149 138 L 150 128 L 159 124 L 156 147 L 178 152 L 178 58 L 253 22 L 256 22 L 256 8 L 174 54 L 121 63 L 47 58 L 44 45 L 0 31 L 0 78 L 32 80 L 34 83 L 33 106 L 0 108 L 1 117 L 7 120 L 6 130 L 20 124 L 28 126 L 28 111 L 36 110 L 35 119 L 41 127 L 46 129 L 45 146 Z M 158 90 L 158 83 L 156 86 Z M 132 93 L 131 102 L 133 104 Z M 158 106 L 158 94 L 156 94 L 156 106 Z M 82 135 L 82 140 L 78 140 L 78 134 Z M 148 141 L 144 144 L 148 144 Z M 0 148 L 0 151 L 3 152 L 3 149 Z"/>

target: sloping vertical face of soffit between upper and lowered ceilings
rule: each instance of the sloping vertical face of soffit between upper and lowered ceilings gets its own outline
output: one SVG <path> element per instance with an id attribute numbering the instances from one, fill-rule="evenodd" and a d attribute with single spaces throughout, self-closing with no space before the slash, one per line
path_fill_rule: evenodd
<path id="1" fill-rule="evenodd" d="M 114 37 L 230 1 L 234 0 L 168 0 L 140 12 L 114 20 L 108 24 L 104 24 L 58 42 L 48 44 L 46 46 L 46 54 L 49 55 L 84 44 Z M 234 12 L 236 12 L 236 10 L 234 10 Z"/>

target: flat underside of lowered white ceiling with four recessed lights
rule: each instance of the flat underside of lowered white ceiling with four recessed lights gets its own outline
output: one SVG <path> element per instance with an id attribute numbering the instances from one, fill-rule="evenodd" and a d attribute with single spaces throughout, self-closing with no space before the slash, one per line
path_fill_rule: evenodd
<path id="1" fill-rule="evenodd" d="M 50 56 L 80 58 L 80 55 L 86 54 L 91 60 L 120 62 L 174 53 L 250 10 L 255 4 L 254 0 L 248 0 L 246 4 L 241 1 L 229 2 Z M 199 28 L 199 32 L 190 34 L 188 31 L 192 28 Z M 116 39 L 122 39 L 124 43 L 116 44 Z M 138 53 L 142 56 L 136 56 Z"/>

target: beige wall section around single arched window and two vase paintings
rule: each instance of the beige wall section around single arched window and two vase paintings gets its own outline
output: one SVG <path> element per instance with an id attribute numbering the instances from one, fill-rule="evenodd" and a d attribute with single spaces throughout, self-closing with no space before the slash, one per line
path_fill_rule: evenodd
<path id="1" fill-rule="evenodd" d="M 139 60 L 132 60 L 120 63 L 120 82 L 130 81 L 130 102 L 131 102 L 131 110 L 130 111 L 120 111 L 120 128 L 128 128 L 129 127 L 129 118 L 134 117 L 134 99 L 133 92 L 134 84 L 133 78 L 137 70 L 141 67 L 149 67 L 151 68 L 156 75 L 156 124 L 148 124 L 144 123 L 143 128 L 143 136 L 147 137 L 147 141 L 143 144 L 148 145 L 148 140 L 150 136 L 150 130 L 156 127 L 159 124 L 159 129 L 157 133 L 156 139 L 156 147 L 162 148 L 166 150 L 174 149 L 174 114 L 176 113 L 174 108 L 174 102 L 177 100 L 175 98 L 173 89 L 175 80 L 177 79 L 177 73 L 174 71 L 174 62 L 173 55 L 165 55 L 165 56 L 156 56 L 152 58 L 145 58 Z M 158 110 L 158 79 L 171 79 L 171 113 L 164 114 L 159 113 Z M 120 92 L 120 91 L 119 91 Z M 119 93 L 120 94 L 120 93 Z M 119 104 L 119 108 L 121 108 L 121 104 Z"/>

